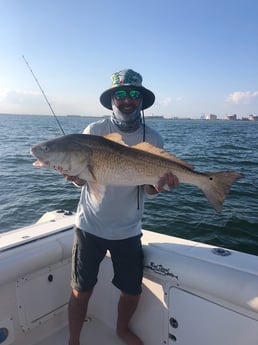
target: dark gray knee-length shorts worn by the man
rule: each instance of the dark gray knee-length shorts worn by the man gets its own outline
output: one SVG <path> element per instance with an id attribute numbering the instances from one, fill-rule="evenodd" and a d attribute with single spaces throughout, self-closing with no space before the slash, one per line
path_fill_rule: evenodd
<path id="1" fill-rule="evenodd" d="M 72 288 L 77 291 L 90 291 L 94 288 L 99 265 L 109 250 L 114 268 L 112 283 L 127 294 L 140 294 L 143 276 L 141 236 L 124 240 L 106 240 L 75 227 Z"/>

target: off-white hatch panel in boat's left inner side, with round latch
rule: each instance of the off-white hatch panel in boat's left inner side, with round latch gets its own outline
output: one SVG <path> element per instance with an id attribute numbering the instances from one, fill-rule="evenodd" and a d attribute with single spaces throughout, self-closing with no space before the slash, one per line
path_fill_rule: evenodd
<path id="1" fill-rule="evenodd" d="M 71 293 L 70 270 L 71 263 L 67 261 L 17 280 L 18 313 L 24 332 L 54 317 L 67 307 Z"/>

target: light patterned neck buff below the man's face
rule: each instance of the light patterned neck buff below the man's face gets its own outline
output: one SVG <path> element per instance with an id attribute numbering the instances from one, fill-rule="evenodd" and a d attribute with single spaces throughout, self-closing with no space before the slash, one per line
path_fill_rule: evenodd
<path id="1" fill-rule="evenodd" d="M 113 99 L 111 100 L 113 114 L 111 116 L 111 121 L 121 130 L 124 132 L 134 132 L 138 129 L 142 123 L 141 119 L 141 109 L 142 109 L 142 102 L 139 106 L 129 114 L 125 114 L 120 111 L 117 106 L 114 104 Z"/>

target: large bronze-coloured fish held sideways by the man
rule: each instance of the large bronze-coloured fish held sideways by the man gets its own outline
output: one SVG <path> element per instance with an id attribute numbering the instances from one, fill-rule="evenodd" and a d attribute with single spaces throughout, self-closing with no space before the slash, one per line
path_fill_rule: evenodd
<path id="1" fill-rule="evenodd" d="M 195 171 L 192 165 L 148 142 L 128 146 L 118 133 L 64 135 L 32 146 L 30 153 L 37 159 L 33 163 L 36 167 L 52 168 L 62 175 L 87 181 L 99 202 L 107 185 L 155 186 L 171 172 L 179 184 L 201 189 L 220 213 L 232 184 L 244 177 L 235 171 Z"/>

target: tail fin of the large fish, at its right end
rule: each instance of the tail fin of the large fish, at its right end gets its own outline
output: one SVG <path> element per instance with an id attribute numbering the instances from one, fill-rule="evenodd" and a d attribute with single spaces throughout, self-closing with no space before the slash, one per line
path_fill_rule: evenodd
<path id="1" fill-rule="evenodd" d="M 244 175 L 234 171 L 218 171 L 204 175 L 206 176 L 206 181 L 199 187 L 216 212 L 220 213 L 222 204 L 232 184 L 244 177 Z"/>

